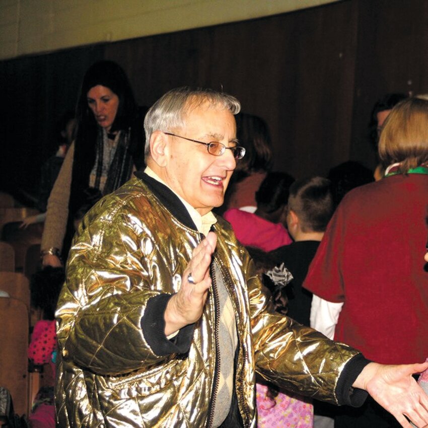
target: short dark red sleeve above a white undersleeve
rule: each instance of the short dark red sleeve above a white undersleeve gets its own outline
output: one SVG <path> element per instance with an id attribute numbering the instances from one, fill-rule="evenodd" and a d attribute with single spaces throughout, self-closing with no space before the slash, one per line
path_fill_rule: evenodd
<path id="1" fill-rule="evenodd" d="M 344 302 L 343 278 L 341 274 L 344 254 L 345 221 L 340 204 L 309 266 L 303 287 L 329 302 Z"/>

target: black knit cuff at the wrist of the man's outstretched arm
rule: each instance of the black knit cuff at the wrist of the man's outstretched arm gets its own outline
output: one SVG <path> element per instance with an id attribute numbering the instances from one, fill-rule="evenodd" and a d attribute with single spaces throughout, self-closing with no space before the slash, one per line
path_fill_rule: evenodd
<path id="1" fill-rule="evenodd" d="M 352 384 L 369 363 L 370 361 L 366 360 L 362 353 L 355 355 L 346 363 L 336 385 L 336 397 L 339 405 L 360 407 L 366 401 L 368 392 L 360 388 L 353 388 Z"/>

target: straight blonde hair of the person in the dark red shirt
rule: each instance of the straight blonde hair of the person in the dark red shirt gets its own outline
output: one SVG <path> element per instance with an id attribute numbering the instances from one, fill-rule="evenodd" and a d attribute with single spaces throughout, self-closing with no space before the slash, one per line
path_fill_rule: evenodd
<path id="1" fill-rule="evenodd" d="M 399 162 L 403 174 L 428 161 L 428 101 L 407 98 L 391 110 L 379 139 L 379 156 L 385 165 Z"/>

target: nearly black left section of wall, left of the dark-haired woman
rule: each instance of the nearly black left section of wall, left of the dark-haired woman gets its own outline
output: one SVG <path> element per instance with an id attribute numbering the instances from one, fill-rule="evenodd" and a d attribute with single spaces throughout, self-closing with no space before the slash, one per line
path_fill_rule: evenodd
<path id="1" fill-rule="evenodd" d="M 0 62 L 2 156 L 1 187 L 37 192 L 40 167 L 57 148 L 56 126 L 74 110 L 83 75 L 102 58 L 101 47 Z"/>

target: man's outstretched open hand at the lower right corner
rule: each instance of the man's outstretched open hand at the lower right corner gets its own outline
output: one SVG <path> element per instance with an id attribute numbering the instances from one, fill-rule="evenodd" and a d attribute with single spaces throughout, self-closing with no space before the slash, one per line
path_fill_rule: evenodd
<path id="1" fill-rule="evenodd" d="M 353 386 L 365 389 L 404 428 L 411 428 L 406 417 L 422 428 L 428 426 L 428 396 L 412 375 L 427 368 L 428 363 L 399 366 L 370 363 Z"/>

